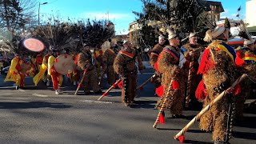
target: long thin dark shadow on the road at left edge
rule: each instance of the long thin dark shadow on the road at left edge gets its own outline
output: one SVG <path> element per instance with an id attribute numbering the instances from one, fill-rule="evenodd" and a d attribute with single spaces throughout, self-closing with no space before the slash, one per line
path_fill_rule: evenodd
<path id="1" fill-rule="evenodd" d="M 71 106 L 62 103 L 51 102 L 0 102 L 0 109 L 31 109 L 43 107 L 64 109 L 70 108 Z"/>

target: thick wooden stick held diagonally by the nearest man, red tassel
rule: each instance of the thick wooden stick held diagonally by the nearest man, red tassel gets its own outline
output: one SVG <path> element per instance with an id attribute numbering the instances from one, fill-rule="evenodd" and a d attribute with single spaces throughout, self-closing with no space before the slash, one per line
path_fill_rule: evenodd
<path id="1" fill-rule="evenodd" d="M 238 78 L 233 84 L 232 86 L 230 86 L 230 88 L 234 88 L 234 86 L 236 86 L 239 82 L 241 82 L 244 78 L 246 78 L 246 74 L 242 74 L 242 76 L 240 78 Z M 178 132 L 178 134 L 176 134 L 174 136 L 174 139 L 178 140 L 178 138 L 182 135 L 184 135 L 186 133 L 187 130 L 189 130 L 189 128 L 191 126 L 194 125 L 195 122 L 197 122 L 203 114 L 206 113 L 206 111 L 210 110 L 210 108 L 212 106 L 214 106 L 214 104 L 218 101 L 220 101 L 222 99 L 223 96 L 225 96 L 226 94 L 226 90 L 224 90 L 221 94 L 219 94 L 216 98 L 214 98 L 214 100 L 212 102 L 210 102 L 209 105 L 207 105 L 206 107 L 204 107 L 198 115 L 196 115 L 180 132 Z"/>

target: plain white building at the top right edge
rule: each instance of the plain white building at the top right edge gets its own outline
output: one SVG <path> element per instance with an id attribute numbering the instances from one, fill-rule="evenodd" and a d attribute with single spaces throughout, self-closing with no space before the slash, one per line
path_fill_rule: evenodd
<path id="1" fill-rule="evenodd" d="M 247 29 L 250 34 L 256 35 L 256 19 L 254 14 L 256 14 L 256 0 L 247 0 L 246 1 L 246 23 Z"/>

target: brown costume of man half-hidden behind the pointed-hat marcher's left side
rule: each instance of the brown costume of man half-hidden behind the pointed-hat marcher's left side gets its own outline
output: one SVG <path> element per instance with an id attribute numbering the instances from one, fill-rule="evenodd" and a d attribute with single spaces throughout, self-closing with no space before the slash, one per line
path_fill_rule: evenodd
<path id="1" fill-rule="evenodd" d="M 158 55 L 162 52 L 163 46 L 159 43 L 156 44 L 153 49 L 150 51 L 150 65 L 155 67 L 154 64 L 158 61 Z M 152 82 L 154 82 L 154 87 L 157 88 L 161 86 L 161 74 L 156 73 Z"/>

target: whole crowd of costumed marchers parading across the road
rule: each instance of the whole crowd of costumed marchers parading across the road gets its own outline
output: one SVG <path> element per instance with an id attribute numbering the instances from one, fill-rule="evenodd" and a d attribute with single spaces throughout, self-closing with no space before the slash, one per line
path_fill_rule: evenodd
<path id="1" fill-rule="evenodd" d="M 229 140 L 230 131 L 227 127 L 232 125 L 227 119 L 230 116 L 230 104 L 235 103 L 236 113 L 234 119 L 242 118 L 243 104 L 249 97 L 252 79 L 256 74 L 256 42 L 254 39 L 246 39 L 243 47 L 234 49 L 229 46 L 230 27 L 216 26 L 207 30 L 204 41 L 208 46 L 198 44 L 197 33 L 190 33 L 189 43 L 180 46 L 178 34 L 167 28 L 168 43 L 163 35 L 158 37 L 158 44 L 150 50 L 150 64 L 154 67 L 155 93 L 160 97 L 156 108 L 170 110 L 173 118 L 184 118 L 184 107 L 209 105 L 222 91 L 226 90 L 226 96 L 217 102 L 200 119 L 200 129 L 213 133 L 214 143 L 226 143 Z M 78 84 L 84 71 L 85 94 L 101 94 L 102 71 L 107 75 L 107 82 L 114 85 L 118 78 L 122 79 L 122 102 L 126 106 L 134 103 L 137 87 L 138 71 L 144 69 L 138 50 L 134 49 L 130 41 L 123 42 L 122 50 L 114 50 L 114 43 L 110 42 L 110 48 L 104 52 L 100 47 L 91 53 L 90 45 L 83 45 L 80 52 L 66 50 L 64 54 L 72 56 L 74 70 L 68 72 L 68 77 Z M 24 88 L 26 74 L 34 75 L 34 82 L 40 80 L 47 83 L 53 82 L 55 94 L 61 94 L 62 71 L 57 68 L 56 62 L 60 51 L 51 46 L 45 54 L 38 54 L 31 58 L 30 69 L 24 69 L 22 54 L 16 54 L 10 64 L 10 70 L 5 81 L 14 81 L 16 89 Z M 64 69 L 64 67 L 63 67 Z M 242 74 L 248 78 L 230 87 Z M 236 95 L 236 96 L 235 96 Z M 233 109 L 232 109 L 233 110 Z M 162 113 L 164 117 L 164 114 Z"/>

